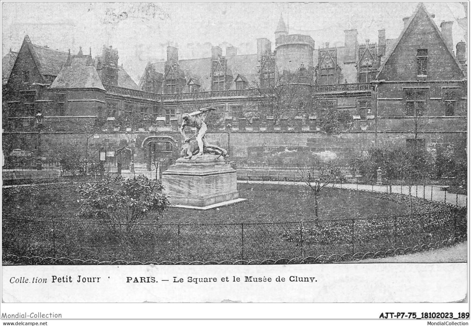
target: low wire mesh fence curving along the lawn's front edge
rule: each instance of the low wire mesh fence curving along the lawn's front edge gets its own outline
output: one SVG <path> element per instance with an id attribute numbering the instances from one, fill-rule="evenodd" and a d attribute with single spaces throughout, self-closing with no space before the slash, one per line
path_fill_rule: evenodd
<path id="1" fill-rule="evenodd" d="M 466 236 L 466 209 L 376 219 L 276 223 L 127 225 L 97 220 L 3 217 L 8 255 L 81 261 L 236 262 L 299 257 L 333 261 L 413 252 Z M 39 262 L 36 262 L 39 263 Z M 50 262 L 45 262 L 50 263 Z"/>

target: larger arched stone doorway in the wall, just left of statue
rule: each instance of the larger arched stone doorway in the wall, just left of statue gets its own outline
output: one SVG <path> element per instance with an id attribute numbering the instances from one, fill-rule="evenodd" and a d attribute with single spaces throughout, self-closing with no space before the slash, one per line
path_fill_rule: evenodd
<path id="1" fill-rule="evenodd" d="M 169 165 L 177 159 L 178 142 L 170 136 L 150 136 L 144 139 L 141 148 L 145 149 L 147 171 L 152 171 L 157 166 Z"/>

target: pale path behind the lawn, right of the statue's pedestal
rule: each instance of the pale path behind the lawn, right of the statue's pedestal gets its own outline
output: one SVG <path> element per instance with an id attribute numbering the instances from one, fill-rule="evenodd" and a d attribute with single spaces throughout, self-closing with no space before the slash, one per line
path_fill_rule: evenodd
<path id="1" fill-rule="evenodd" d="M 306 185 L 304 182 L 300 181 L 247 181 L 247 180 L 237 180 L 237 183 L 256 183 L 256 184 L 280 184 L 280 185 Z M 347 188 L 347 189 L 358 189 L 358 190 L 367 190 L 367 191 L 377 191 L 377 192 L 392 192 L 396 194 L 409 194 L 409 187 L 407 186 L 378 186 L 378 185 L 361 185 L 355 183 L 338 183 L 338 184 L 329 184 L 328 187 L 336 188 Z M 443 186 L 412 186 L 411 195 L 414 197 L 424 198 L 427 200 L 433 200 L 441 203 L 447 203 L 452 205 L 458 205 L 465 207 L 468 204 L 467 195 L 458 195 L 453 194 L 444 190 L 441 190 Z M 425 190 L 425 191 L 424 191 Z"/>

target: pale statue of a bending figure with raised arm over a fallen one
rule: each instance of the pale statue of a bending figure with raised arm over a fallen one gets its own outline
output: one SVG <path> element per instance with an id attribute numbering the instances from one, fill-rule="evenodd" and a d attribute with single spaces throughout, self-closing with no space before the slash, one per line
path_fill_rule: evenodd
<path id="1" fill-rule="evenodd" d="M 184 113 L 182 115 L 183 122 L 179 129 L 185 143 L 182 146 L 181 155 L 185 159 L 191 158 L 193 155 L 203 155 L 203 153 L 209 153 L 214 155 L 227 155 L 227 151 L 219 146 L 209 144 L 204 138 L 204 134 L 208 130 L 204 119 L 210 111 L 215 110 L 214 106 L 205 107 L 192 113 Z M 200 118 L 199 115 L 205 113 L 204 118 Z M 185 127 L 196 128 L 196 133 L 192 137 L 187 137 L 185 134 Z M 195 139 L 193 139 L 195 137 Z M 192 140 L 193 139 L 193 140 Z"/>

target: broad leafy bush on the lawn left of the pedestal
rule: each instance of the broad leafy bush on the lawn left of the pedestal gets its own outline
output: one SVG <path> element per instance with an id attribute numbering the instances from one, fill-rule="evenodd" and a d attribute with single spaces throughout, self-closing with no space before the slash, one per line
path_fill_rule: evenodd
<path id="1" fill-rule="evenodd" d="M 170 206 L 158 181 L 138 176 L 133 179 L 105 178 L 78 187 L 82 197 L 78 216 L 103 220 L 114 232 L 131 232 L 150 212 L 159 216 Z"/>

